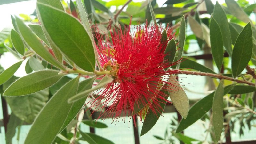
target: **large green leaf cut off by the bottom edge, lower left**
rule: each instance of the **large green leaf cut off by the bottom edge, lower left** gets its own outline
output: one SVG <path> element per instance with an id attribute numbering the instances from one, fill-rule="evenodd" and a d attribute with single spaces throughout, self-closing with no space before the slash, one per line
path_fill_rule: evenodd
<path id="1" fill-rule="evenodd" d="M 25 144 L 52 143 L 70 112 L 72 104 L 68 104 L 67 100 L 76 94 L 78 82 L 79 77 L 69 81 L 52 96 L 32 124 Z"/>

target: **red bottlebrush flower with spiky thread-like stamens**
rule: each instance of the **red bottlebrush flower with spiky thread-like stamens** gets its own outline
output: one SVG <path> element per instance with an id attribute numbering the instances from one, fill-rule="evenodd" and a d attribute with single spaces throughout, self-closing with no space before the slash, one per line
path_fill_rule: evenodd
<path id="1" fill-rule="evenodd" d="M 172 29 L 167 28 L 167 40 L 162 40 L 161 25 L 148 25 L 147 22 L 134 27 L 134 30 L 130 24 L 124 31 L 120 25 L 114 25 L 110 28 L 110 36 L 105 39 L 98 28 L 95 32 L 100 64 L 116 74 L 112 76 L 112 83 L 93 93 L 97 97 L 89 102 L 90 108 L 99 110 L 108 105 L 107 112 L 101 112 L 99 118 L 113 117 L 113 121 L 127 115 L 135 117 L 135 107 L 141 107 L 141 104 L 144 109 L 137 113 L 140 121 L 148 109 L 155 114 L 162 112 L 159 99 L 169 101 L 166 99 L 168 95 L 160 90 L 181 89 L 177 83 L 168 82 L 169 76 L 178 70 L 164 71 L 164 68 L 177 63 L 164 62 L 167 43 L 174 38 Z M 167 86 L 163 87 L 165 84 Z"/>

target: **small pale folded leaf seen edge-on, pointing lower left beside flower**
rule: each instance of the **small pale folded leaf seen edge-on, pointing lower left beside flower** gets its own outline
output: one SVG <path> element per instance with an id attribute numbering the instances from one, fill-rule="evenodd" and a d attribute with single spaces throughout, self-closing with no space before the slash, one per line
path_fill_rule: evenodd
<path id="1" fill-rule="evenodd" d="M 81 98 L 87 97 L 88 94 L 90 94 L 91 92 L 106 86 L 108 83 L 111 83 L 112 81 L 113 81 L 113 79 L 111 77 L 104 76 L 103 79 L 100 81 L 100 83 L 98 83 L 95 87 L 93 87 L 92 89 L 85 90 L 83 92 L 80 92 L 80 93 L 76 94 L 75 96 L 69 98 L 68 102 L 69 103 L 76 102 Z"/>

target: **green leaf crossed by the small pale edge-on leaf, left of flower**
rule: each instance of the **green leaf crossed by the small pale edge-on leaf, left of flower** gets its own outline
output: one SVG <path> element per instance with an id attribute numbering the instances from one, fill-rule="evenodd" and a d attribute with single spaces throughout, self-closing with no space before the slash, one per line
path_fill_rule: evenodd
<path id="1" fill-rule="evenodd" d="M 84 90 L 89 90 L 92 88 L 92 84 L 94 82 L 96 77 L 91 77 L 91 78 L 88 78 L 82 82 L 79 83 L 78 85 L 78 90 L 77 92 L 82 92 Z M 72 103 L 71 107 L 70 107 L 70 110 L 69 110 L 69 113 L 68 113 L 68 116 L 60 130 L 60 132 L 66 127 L 68 126 L 68 124 L 74 119 L 74 117 L 77 115 L 77 113 L 80 111 L 80 109 L 84 106 L 84 103 L 85 103 L 85 100 L 87 99 L 88 95 L 84 98 L 81 98 L 80 100 Z M 70 97 L 67 97 L 67 98 L 70 98 Z M 66 101 L 68 101 L 68 99 L 66 99 Z"/>

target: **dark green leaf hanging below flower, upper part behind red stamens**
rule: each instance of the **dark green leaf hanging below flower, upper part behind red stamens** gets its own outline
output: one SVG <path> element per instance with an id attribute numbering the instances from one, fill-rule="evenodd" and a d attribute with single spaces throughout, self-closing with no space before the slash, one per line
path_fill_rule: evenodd
<path id="1" fill-rule="evenodd" d="M 167 86 L 167 84 L 165 84 L 163 87 L 166 87 L 166 86 Z M 164 93 L 165 89 L 161 89 L 160 92 Z M 148 110 L 147 115 L 146 115 L 143 125 L 142 125 L 140 136 L 148 133 L 148 131 L 151 130 L 151 128 L 156 124 L 157 120 L 159 119 L 160 115 L 162 114 L 162 111 L 164 110 L 168 95 L 166 95 L 166 97 L 163 97 L 163 98 L 157 99 L 159 102 L 159 111 L 160 112 L 153 112 L 151 109 Z"/>

